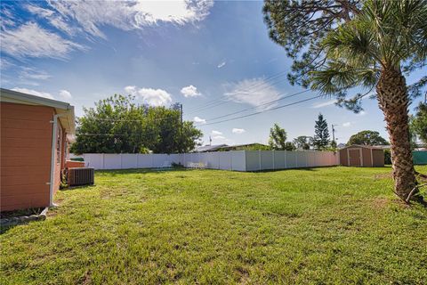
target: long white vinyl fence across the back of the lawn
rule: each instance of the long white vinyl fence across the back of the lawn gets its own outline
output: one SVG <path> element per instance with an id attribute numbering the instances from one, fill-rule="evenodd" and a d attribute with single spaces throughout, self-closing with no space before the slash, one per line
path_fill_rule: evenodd
<path id="1" fill-rule="evenodd" d="M 205 168 L 260 171 L 339 164 L 333 151 L 214 151 L 176 154 L 85 153 L 85 166 L 95 169 L 160 168 L 167 163 L 201 164 Z"/>

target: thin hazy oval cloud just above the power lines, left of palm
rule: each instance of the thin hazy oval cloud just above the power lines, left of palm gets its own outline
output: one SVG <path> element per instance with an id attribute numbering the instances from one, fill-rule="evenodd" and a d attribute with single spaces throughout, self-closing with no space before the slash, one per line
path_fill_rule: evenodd
<path id="1" fill-rule="evenodd" d="M 278 105 L 280 98 L 278 90 L 263 78 L 245 79 L 238 84 L 226 86 L 230 91 L 224 95 L 233 102 L 247 103 L 257 107 L 257 110 L 269 110 Z M 272 102 L 266 104 L 267 102 Z"/>

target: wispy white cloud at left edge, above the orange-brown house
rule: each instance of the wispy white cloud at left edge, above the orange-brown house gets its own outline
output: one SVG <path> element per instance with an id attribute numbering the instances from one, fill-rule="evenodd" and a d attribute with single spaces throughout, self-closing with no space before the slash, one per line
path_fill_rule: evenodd
<path id="1" fill-rule="evenodd" d="M 84 50 L 83 45 L 68 41 L 34 22 L 19 28 L 4 29 L 0 35 L 2 51 L 16 57 L 51 57 L 65 59 L 74 50 Z"/>

